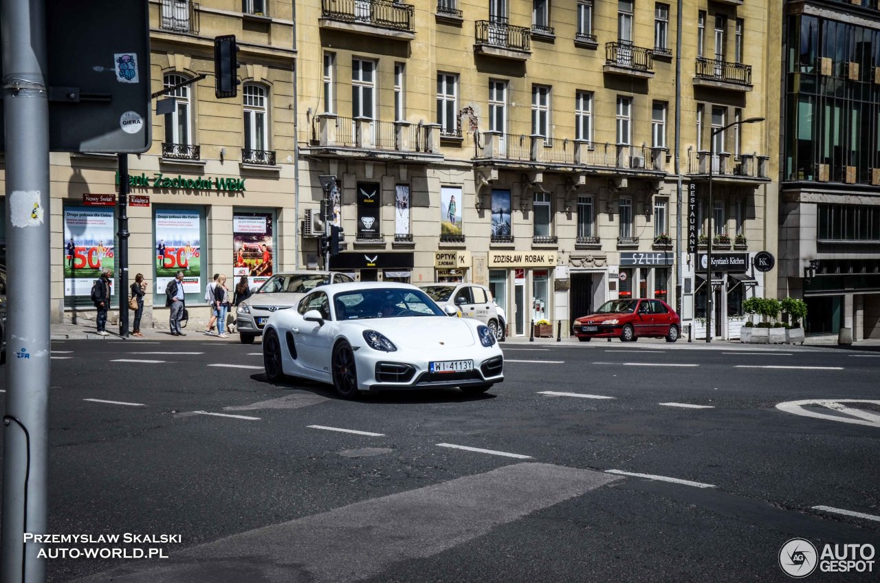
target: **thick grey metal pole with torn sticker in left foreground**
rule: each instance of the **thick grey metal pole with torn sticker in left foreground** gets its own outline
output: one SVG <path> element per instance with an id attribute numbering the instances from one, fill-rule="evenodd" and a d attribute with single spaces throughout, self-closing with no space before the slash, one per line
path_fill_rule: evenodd
<path id="1" fill-rule="evenodd" d="M 10 258 L 0 580 L 46 580 L 49 402 L 49 136 L 42 2 L 0 1 L 6 149 L 6 250 Z"/>

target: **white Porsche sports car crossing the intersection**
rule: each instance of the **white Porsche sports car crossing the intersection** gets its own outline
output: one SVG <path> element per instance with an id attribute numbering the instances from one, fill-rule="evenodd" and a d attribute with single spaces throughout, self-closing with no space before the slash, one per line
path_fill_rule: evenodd
<path id="1" fill-rule="evenodd" d="M 388 388 L 483 393 L 504 380 L 501 348 L 475 318 L 447 318 L 453 309 L 409 284 L 322 286 L 269 318 L 266 376 L 318 380 L 344 398 Z"/>

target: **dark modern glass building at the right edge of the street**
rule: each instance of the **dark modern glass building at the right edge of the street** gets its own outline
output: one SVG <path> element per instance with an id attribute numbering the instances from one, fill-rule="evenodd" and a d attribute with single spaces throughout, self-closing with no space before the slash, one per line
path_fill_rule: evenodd
<path id="1" fill-rule="evenodd" d="M 880 10 L 785 4 L 780 293 L 807 334 L 880 338 Z"/>

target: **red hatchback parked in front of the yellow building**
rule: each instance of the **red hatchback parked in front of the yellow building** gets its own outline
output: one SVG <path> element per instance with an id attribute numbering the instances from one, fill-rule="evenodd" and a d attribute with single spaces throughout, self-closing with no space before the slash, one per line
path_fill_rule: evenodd
<path id="1" fill-rule="evenodd" d="M 641 336 L 675 342 L 681 332 L 681 319 L 662 299 L 612 299 L 595 313 L 578 318 L 573 331 L 581 342 L 612 337 L 635 342 Z"/>

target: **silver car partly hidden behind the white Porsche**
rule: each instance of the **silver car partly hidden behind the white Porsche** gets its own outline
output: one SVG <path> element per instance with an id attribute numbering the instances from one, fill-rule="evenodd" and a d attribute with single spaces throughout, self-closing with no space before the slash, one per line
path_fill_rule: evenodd
<path id="1" fill-rule="evenodd" d="M 293 271 L 269 277 L 253 295 L 236 309 L 235 326 L 242 344 L 253 343 L 263 333 L 269 316 L 278 310 L 297 306 L 315 287 L 354 281 L 335 271 Z"/>

